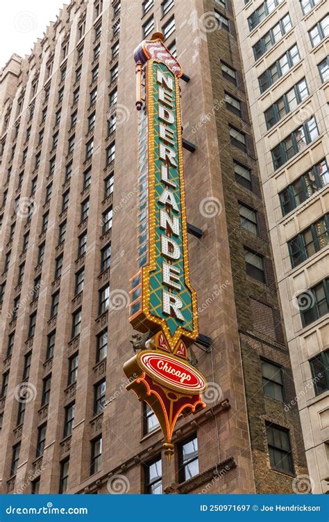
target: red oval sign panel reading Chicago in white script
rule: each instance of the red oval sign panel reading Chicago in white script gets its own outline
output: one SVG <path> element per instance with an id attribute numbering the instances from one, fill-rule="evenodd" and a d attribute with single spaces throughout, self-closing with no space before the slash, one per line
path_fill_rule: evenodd
<path id="1" fill-rule="evenodd" d="M 207 387 L 201 373 L 176 357 L 155 351 L 143 351 L 140 352 L 138 361 L 146 374 L 168 388 L 187 393 L 201 393 Z"/>

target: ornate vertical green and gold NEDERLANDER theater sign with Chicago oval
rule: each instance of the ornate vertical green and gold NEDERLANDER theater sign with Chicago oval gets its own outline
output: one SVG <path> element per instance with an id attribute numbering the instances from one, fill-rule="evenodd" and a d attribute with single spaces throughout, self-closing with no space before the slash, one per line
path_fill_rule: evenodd
<path id="1" fill-rule="evenodd" d="M 196 340 L 196 294 L 189 283 L 178 78 L 180 64 L 161 33 L 135 50 L 139 112 L 138 273 L 130 286 L 130 324 L 143 340 L 124 364 L 139 400 L 149 404 L 169 461 L 176 420 L 205 404 L 207 383 L 189 364 Z M 146 340 L 147 339 L 147 340 Z"/>

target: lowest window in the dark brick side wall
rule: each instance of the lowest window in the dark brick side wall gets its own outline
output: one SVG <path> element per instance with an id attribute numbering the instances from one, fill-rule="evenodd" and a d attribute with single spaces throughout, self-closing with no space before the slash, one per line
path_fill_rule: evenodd
<path id="1" fill-rule="evenodd" d="M 271 467 L 286 473 L 294 473 L 289 431 L 280 426 L 267 424 L 266 432 Z"/>

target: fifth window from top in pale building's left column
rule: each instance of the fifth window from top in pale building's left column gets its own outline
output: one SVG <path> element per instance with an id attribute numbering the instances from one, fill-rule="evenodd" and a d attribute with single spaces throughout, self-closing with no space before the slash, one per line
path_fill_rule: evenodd
<path id="1" fill-rule="evenodd" d="M 303 123 L 301 127 L 271 150 L 274 170 L 278 170 L 298 152 L 304 150 L 317 136 L 319 136 L 317 121 L 312 116 L 312 118 Z"/>

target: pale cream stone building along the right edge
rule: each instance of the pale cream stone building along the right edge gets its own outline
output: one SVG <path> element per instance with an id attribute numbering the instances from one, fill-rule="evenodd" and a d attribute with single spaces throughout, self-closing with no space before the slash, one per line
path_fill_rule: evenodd
<path id="1" fill-rule="evenodd" d="M 314 493 L 328 492 L 328 5 L 234 1 Z"/>

